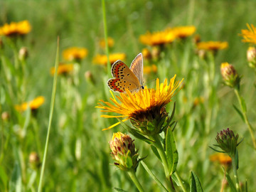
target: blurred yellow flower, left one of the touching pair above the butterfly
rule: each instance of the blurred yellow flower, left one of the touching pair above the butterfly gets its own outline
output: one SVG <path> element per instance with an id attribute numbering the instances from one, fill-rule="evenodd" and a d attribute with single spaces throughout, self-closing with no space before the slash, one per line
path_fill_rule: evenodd
<path id="1" fill-rule="evenodd" d="M 175 38 L 174 32 L 167 28 L 164 31 L 154 33 L 147 32 L 139 37 L 139 41 L 148 46 L 160 46 L 173 42 Z"/>

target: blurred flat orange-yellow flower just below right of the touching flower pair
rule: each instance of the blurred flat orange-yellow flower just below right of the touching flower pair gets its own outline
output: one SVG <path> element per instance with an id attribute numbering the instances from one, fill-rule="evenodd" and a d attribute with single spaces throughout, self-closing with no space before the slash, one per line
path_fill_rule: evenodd
<path id="1" fill-rule="evenodd" d="M 206 41 L 196 44 L 199 50 L 220 50 L 228 48 L 228 42 L 226 41 Z"/>

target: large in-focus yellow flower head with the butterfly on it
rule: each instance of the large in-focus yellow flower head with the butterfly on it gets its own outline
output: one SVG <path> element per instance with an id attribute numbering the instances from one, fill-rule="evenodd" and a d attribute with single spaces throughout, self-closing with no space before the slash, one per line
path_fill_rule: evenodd
<path id="1" fill-rule="evenodd" d="M 144 90 L 139 90 L 132 94 L 127 91 L 127 94 L 120 94 L 120 96 L 114 97 L 112 94 L 112 105 L 110 102 L 105 102 L 100 100 L 107 106 L 99 104 L 97 108 L 102 109 L 102 112 L 115 112 L 119 115 L 102 115 L 101 117 L 105 118 L 115 118 L 115 117 L 124 117 L 123 122 L 127 119 L 132 119 L 135 121 L 145 122 L 156 119 L 156 116 L 161 116 L 166 114 L 165 105 L 171 102 L 171 97 L 174 96 L 175 90 L 181 85 L 181 82 L 175 82 L 176 75 L 174 78 L 171 78 L 168 85 L 167 79 L 164 80 L 164 83 L 159 84 L 159 79 L 156 79 L 156 89 L 149 89 L 146 86 Z M 181 80 L 182 81 L 182 80 Z M 118 123 L 113 124 L 107 129 L 115 127 Z M 105 130 L 105 129 L 104 129 Z"/>

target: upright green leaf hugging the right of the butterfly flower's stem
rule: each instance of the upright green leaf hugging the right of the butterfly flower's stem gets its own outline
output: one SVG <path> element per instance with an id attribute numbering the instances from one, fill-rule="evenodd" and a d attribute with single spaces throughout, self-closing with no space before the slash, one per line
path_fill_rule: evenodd
<path id="1" fill-rule="evenodd" d="M 169 166 L 169 174 L 174 174 L 178 164 L 178 151 L 171 128 L 168 128 L 166 133 L 166 158 Z"/>

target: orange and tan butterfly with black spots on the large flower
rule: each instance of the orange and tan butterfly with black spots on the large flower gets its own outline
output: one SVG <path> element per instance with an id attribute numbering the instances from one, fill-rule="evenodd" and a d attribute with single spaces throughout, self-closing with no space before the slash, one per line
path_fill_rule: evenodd
<path id="1" fill-rule="evenodd" d="M 114 92 L 126 92 L 125 89 L 130 92 L 137 92 L 143 87 L 143 58 L 142 53 L 139 53 L 132 61 L 131 67 L 117 60 L 114 62 L 111 68 L 113 78 L 107 81 L 107 85 Z"/>

